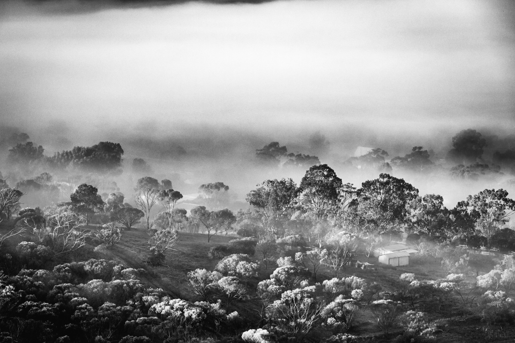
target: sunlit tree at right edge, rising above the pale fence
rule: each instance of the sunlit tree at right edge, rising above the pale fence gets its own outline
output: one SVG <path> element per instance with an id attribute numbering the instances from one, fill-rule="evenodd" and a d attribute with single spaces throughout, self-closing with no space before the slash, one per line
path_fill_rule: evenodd
<path id="1" fill-rule="evenodd" d="M 476 227 L 487 239 L 488 247 L 492 245 L 493 235 L 509 221 L 515 213 L 515 201 L 508 198 L 504 189 L 485 189 L 467 197 L 471 215 L 476 220 Z"/>

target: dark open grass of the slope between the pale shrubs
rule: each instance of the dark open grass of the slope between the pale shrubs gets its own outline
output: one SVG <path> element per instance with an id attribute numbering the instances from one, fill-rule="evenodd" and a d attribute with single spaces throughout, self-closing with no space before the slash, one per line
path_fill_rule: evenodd
<path id="1" fill-rule="evenodd" d="M 0 234 L 7 232 L 8 226 L 0 223 Z M 125 230 L 121 241 L 115 246 L 107 248 L 94 249 L 94 242 L 90 242 L 80 254 L 72 254 L 61 259 L 56 259 L 53 264 L 66 262 L 64 259 L 72 259 L 75 261 L 86 260 L 89 258 L 108 258 L 123 263 L 127 267 L 145 268 L 149 274 L 143 278 L 143 282 L 149 286 L 161 287 L 173 296 L 181 297 L 188 300 L 196 300 L 192 293 L 187 280 L 187 272 L 196 268 L 206 268 L 213 270 L 218 261 L 210 260 L 207 253 L 210 247 L 227 244 L 234 237 L 231 236 L 214 236 L 208 243 L 207 235 L 181 232 L 179 233 L 180 242 L 176 246 L 175 251 L 167 252 L 167 266 L 150 267 L 144 261 L 148 256 L 147 233 L 143 228 L 132 228 Z M 14 247 L 22 239 L 16 237 L 6 242 L 7 246 Z M 259 256 L 256 256 L 259 258 Z M 375 264 L 378 266 L 377 271 L 362 270 L 347 266 L 340 273 L 339 277 L 356 275 L 370 282 L 380 283 L 384 291 L 395 291 L 399 276 L 402 273 L 414 273 L 419 280 L 435 280 L 443 278 L 444 272 L 438 261 L 428 261 L 425 263 L 412 263 L 408 266 L 390 267 L 377 263 L 376 258 L 367 259 L 365 256 L 357 256 L 359 261 Z M 276 265 L 269 265 L 268 269 L 262 268 L 259 277 L 250 280 L 250 284 L 255 286 L 260 280 L 268 278 L 276 268 Z M 322 282 L 325 279 L 334 277 L 329 269 L 321 268 L 317 275 L 317 281 Z M 310 282 L 314 282 L 311 280 Z M 475 275 L 468 276 L 467 283 L 475 283 Z M 438 321 L 438 326 L 443 330 L 436 337 L 440 342 L 512 342 L 515 341 L 515 334 L 511 328 L 500 330 L 497 327 L 485 326 L 478 320 L 477 316 L 464 313 L 464 306 L 460 303 L 459 297 L 450 299 L 440 310 L 438 305 L 430 298 L 421 299 L 419 306 L 421 311 L 430 312 L 433 319 Z M 465 306 L 467 309 L 467 307 Z M 252 317 L 252 322 L 259 321 L 258 313 L 262 310 L 260 302 L 251 299 L 245 302 L 234 302 L 228 308 L 228 312 L 238 311 L 242 315 Z M 463 316 L 465 314 L 465 316 Z M 381 332 L 376 325 L 376 319 L 370 311 L 359 311 L 354 321 L 354 328 L 350 332 L 354 335 L 379 335 Z M 390 340 L 394 337 L 390 338 Z M 379 339 L 378 341 L 381 341 Z M 389 341 L 389 340 L 384 340 Z"/>

